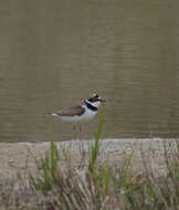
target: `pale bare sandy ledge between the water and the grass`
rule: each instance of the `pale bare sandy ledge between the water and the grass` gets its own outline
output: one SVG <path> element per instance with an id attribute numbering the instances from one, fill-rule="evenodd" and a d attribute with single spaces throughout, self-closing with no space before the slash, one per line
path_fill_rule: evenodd
<path id="1" fill-rule="evenodd" d="M 55 143 L 62 150 L 69 149 L 72 160 L 75 165 L 80 161 L 80 154 L 88 151 L 93 140 L 72 140 Z M 173 139 L 148 138 L 148 139 L 102 139 L 101 155 L 98 158 L 102 161 L 108 161 L 113 165 L 118 165 L 123 161 L 125 154 L 134 151 L 134 166 L 141 168 L 141 153 L 150 161 L 154 170 L 162 171 L 165 168 L 164 161 L 164 143 L 168 147 L 175 147 Z M 35 159 L 44 157 L 50 143 L 1 143 L 0 144 L 0 179 L 13 178 L 18 174 L 24 176 L 30 171 L 34 172 L 36 165 Z M 61 157 L 62 157 L 61 156 Z M 63 157 L 62 157 L 63 158 Z M 148 161 L 147 160 L 147 161 Z"/>

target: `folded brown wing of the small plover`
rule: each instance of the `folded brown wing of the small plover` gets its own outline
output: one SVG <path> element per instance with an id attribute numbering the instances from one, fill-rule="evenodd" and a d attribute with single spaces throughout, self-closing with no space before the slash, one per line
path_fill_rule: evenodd
<path id="1" fill-rule="evenodd" d="M 75 116 L 75 115 L 82 115 L 84 112 L 85 112 L 85 108 L 83 108 L 82 106 L 73 106 L 66 111 L 59 112 L 57 115 L 60 115 L 60 116 Z"/>

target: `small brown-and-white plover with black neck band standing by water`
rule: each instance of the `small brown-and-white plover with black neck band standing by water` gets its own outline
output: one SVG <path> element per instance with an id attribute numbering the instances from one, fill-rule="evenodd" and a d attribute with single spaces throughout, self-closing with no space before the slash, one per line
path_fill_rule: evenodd
<path id="1" fill-rule="evenodd" d="M 66 109 L 62 109 L 56 113 L 45 113 L 46 115 L 60 117 L 64 122 L 88 122 L 95 117 L 97 114 L 98 107 L 101 104 L 106 103 L 105 99 L 94 93 L 87 99 L 83 99 L 83 103 L 80 105 L 71 106 Z M 73 127 L 75 129 L 75 126 Z M 80 133 L 82 127 L 80 125 Z"/>

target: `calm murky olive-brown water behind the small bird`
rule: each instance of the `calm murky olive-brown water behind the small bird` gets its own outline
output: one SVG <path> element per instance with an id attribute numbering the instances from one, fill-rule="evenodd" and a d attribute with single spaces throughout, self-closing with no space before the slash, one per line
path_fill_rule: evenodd
<path id="1" fill-rule="evenodd" d="M 179 136 L 179 2 L 0 3 L 0 141 L 69 140 L 45 112 L 91 93 L 106 101 L 105 138 Z M 96 132 L 97 117 L 83 126 Z"/>

